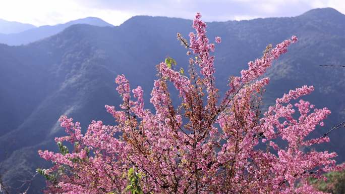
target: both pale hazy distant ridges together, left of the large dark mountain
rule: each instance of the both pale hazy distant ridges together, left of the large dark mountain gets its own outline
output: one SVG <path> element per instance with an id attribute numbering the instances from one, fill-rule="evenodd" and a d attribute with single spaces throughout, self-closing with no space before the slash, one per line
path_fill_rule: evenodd
<path id="1" fill-rule="evenodd" d="M 33 25 L 22 24 L 18 22 L 7 22 L 5 20 L 0 20 L 0 43 L 5 43 L 8 45 L 27 44 L 57 34 L 74 24 L 112 26 L 111 24 L 94 17 L 73 20 L 65 24 L 57 24 L 53 26 L 46 25 L 40 27 L 35 27 Z"/>

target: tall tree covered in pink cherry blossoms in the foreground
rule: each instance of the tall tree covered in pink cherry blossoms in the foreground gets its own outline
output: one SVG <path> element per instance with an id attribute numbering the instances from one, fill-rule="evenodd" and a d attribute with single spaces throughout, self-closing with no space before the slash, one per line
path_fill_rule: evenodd
<path id="1" fill-rule="evenodd" d="M 263 74 L 298 38 L 268 45 L 241 76 L 229 79 L 221 95 L 211 55 L 215 44 L 200 18 L 197 13 L 189 41 L 178 34 L 191 56 L 188 74 L 176 71 L 172 58 L 157 65 L 150 99 L 154 110 L 144 108 L 142 88 L 131 90 L 119 75 L 123 104 L 105 106 L 116 125 L 92 121 L 82 134 L 79 122 L 60 118 L 68 134 L 55 138 L 61 152 L 38 152 L 53 164 L 38 169 L 47 179 L 47 193 L 323 193 L 309 178 L 340 167 L 335 153 L 305 149 L 329 141 L 326 134 L 309 134 L 324 125 L 330 111 L 296 101 L 314 87 L 290 90 L 260 111 L 270 81 Z M 172 103 L 169 82 L 179 93 L 179 106 Z M 64 141 L 74 144 L 73 152 Z"/>

